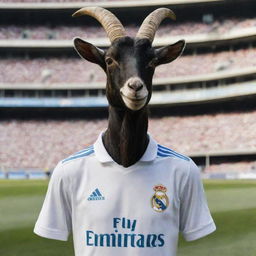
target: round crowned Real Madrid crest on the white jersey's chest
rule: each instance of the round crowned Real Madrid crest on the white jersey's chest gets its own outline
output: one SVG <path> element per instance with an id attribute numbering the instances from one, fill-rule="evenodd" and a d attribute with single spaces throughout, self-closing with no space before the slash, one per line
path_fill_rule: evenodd
<path id="1" fill-rule="evenodd" d="M 169 199 L 166 195 L 167 188 L 163 185 L 154 186 L 155 194 L 151 198 L 151 206 L 157 212 L 163 212 L 169 205 Z"/>

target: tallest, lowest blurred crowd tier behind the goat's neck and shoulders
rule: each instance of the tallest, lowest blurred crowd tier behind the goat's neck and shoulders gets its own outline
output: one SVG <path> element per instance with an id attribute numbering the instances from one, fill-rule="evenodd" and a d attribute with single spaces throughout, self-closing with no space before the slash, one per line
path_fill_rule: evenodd
<path id="1" fill-rule="evenodd" d="M 151 118 L 149 133 L 158 143 L 186 155 L 256 150 L 255 120 L 256 111 Z M 93 144 L 106 127 L 106 119 L 2 121 L 0 163 L 2 167 L 52 168 Z"/>

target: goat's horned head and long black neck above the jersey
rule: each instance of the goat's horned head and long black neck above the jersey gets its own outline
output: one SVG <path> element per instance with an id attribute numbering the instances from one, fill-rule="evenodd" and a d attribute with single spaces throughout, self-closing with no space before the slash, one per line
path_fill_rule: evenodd
<path id="1" fill-rule="evenodd" d="M 109 122 L 103 143 L 116 163 L 129 167 L 142 157 L 149 142 L 147 105 L 152 95 L 155 68 L 175 60 L 182 53 L 185 41 L 159 49 L 152 47 L 162 20 L 167 17 L 176 19 L 167 8 L 150 13 L 135 38 L 126 36 L 121 22 L 106 9 L 85 7 L 73 17 L 81 15 L 96 18 L 111 41 L 109 49 L 103 50 L 75 38 L 74 47 L 82 58 L 98 64 L 107 75 Z"/>

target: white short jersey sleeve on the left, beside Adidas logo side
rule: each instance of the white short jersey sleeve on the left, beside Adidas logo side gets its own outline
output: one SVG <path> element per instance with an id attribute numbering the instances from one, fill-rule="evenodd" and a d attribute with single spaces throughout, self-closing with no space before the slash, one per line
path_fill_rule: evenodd
<path id="1" fill-rule="evenodd" d="M 70 183 L 59 163 L 51 176 L 46 197 L 34 227 L 34 233 L 50 239 L 67 241 L 71 231 Z"/>

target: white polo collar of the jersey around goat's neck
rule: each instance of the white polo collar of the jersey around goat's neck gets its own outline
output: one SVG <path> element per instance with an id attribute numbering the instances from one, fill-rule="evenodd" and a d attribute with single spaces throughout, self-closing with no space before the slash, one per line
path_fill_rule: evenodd
<path id="1" fill-rule="evenodd" d="M 104 147 L 104 144 L 102 141 L 103 133 L 104 132 L 100 133 L 98 139 L 96 140 L 96 142 L 93 145 L 96 158 L 102 163 L 114 162 L 114 160 L 108 154 L 106 148 Z M 142 161 L 142 162 L 153 161 L 157 156 L 157 143 L 149 134 L 148 134 L 148 136 L 149 136 L 149 143 L 148 143 L 147 149 L 146 149 L 144 155 L 139 160 L 139 162 L 140 161 Z"/>

